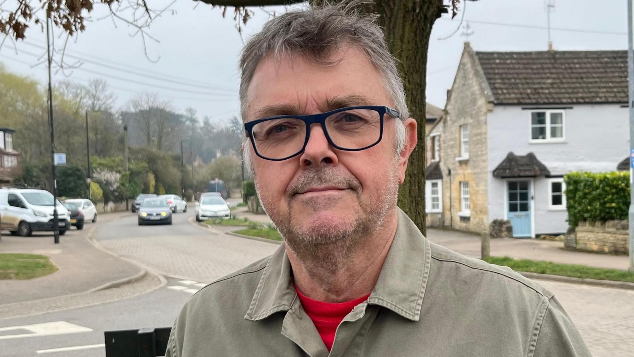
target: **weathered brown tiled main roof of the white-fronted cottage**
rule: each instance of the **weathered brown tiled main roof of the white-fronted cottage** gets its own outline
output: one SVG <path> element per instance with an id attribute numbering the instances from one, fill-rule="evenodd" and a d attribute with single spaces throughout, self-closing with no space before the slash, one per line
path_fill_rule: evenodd
<path id="1" fill-rule="evenodd" d="M 475 52 L 495 104 L 627 103 L 627 51 Z"/>

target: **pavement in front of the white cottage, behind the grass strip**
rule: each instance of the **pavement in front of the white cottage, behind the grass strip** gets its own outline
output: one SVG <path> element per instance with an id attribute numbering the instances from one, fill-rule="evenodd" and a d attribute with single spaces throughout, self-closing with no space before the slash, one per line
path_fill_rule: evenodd
<path id="1" fill-rule="evenodd" d="M 481 237 L 477 234 L 427 228 L 427 238 L 468 257 L 480 257 Z M 541 239 L 491 238 L 491 255 L 609 269 L 627 270 L 630 266 L 626 255 L 575 252 L 564 249 L 564 242 Z"/>

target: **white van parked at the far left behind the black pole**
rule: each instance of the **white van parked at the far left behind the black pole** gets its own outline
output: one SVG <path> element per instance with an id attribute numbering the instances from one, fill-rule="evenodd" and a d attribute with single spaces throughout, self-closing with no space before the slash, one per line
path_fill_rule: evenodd
<path id="1" fill-rule="evenodd" d="M 70 215 L 57 201 L 60 235 L 70 229 Z M 53 194 L 35 189 L 0 189 L 0 226 L 12 235 L 53 231 Z"/>

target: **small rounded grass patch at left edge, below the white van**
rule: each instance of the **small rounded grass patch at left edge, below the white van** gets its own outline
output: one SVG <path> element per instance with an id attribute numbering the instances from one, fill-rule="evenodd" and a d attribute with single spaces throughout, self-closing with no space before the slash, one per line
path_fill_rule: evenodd
<path id="1" fill-rule="evenodd" d="M 44 255 L 0 254 L 0 280 L 27 280 L 56 271 L 55 264 Z"/>

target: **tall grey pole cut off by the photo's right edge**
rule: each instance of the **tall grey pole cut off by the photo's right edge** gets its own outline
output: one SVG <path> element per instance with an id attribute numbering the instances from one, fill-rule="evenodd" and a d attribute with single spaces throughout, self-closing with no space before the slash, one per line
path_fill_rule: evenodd
<path id="1" fill-rule="evenodd" d="M 628 0 L 628 106 L 630 107 L 630 273 L 634 273 L 634 48 L 632 0 Z"/>

